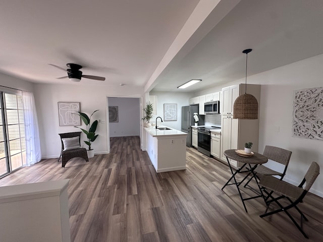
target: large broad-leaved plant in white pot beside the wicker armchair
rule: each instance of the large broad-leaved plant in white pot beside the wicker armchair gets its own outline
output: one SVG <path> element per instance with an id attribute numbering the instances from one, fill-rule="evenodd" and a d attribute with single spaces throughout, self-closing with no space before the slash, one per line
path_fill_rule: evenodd
<path id="1" fill-rule="evenodd" d="M 96 111 L 98 111 L 98 110 L 95 110 L 94 112 L 96 112 Z M 86 130 L 84 130 L 80 127 L 76 127 L 76 126 L 74 126 L 74 127 L 81 129 L 83 131 L 83 133 L 86 135 L 87 140 L 84 140 L 84 143 L 88 145 L 87 156 L 89 158 L 92 158 L 94 156 L 94 150 L 91 149 L 91 144 L 93 141 L 96 140 L 96 138 L 98 136 L 95 134 L 97 123 L 98 123 L 97 120 L 94 120 L 93 123 L 91 124 L 91 117 L 94 112 L 92 112 L 90 117 L 84 112 L 75 113 L 81 117 L 81 119 L 83 120 L 83 122 L 86 126 Z"/>

